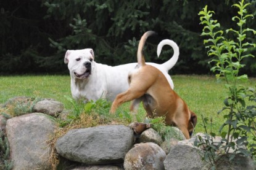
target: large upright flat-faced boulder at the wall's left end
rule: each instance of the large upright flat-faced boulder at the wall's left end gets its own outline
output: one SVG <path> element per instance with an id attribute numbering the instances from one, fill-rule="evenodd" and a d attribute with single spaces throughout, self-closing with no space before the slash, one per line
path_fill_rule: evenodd
<path id="1" fill-rule="evenodd" d="M 46 141 L 54 133 L 56 123 L 43 114 L 27 114 L 10 118 L 6 134 L 10 144 L 13 170 L 49 170 L 50 149 Z"/>

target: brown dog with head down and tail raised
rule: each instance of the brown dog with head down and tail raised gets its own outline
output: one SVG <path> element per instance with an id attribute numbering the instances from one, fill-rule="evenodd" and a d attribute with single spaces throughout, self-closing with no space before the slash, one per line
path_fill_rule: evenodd
<path id="1" fill-rule="evenodd" d="M 166 125 L 177 126 L 186 139 L 189 139 L 196 126 L 197 115 L 191 112 L 183 99 L 171 89 L 167 77 L 159 69 L 145 64 L 142 50 L 147 37 L 152 34 L 153 31 L 147 31 L 141 37 L 137 53 L 138 65 L 128 75 L 130 87 L 124 93 L 117 95 L 110 113 L 115 113 L 123 102 L 134 100 L 130 107 L 133 111 L 134 106 L 142 101 L 147 116 L 165 116 Z"/>

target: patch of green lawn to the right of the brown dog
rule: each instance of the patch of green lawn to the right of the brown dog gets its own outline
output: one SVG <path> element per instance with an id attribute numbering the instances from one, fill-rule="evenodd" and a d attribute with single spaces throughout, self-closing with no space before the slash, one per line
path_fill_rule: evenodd
<path id="1" fill-rule="evenodd" d="M 220 82 L 215 77 L 206 75 L 174 75 L 171 78 L 175 83 L 176 93 L 187 102 L 189 109 L 197 114 L 196 133 L 204 132 L 203 116 L 212 118 L 213 132 L 218 134 L 220 126 L 224 123 L 224 113 L 217 112 L 224 107 L 223 101 L 228 96 L 225 81 Z M 256 79 L 251 78 L 242 85 L 255 88 Z M 210 128 L 210 125 L 207 128 Z"/>

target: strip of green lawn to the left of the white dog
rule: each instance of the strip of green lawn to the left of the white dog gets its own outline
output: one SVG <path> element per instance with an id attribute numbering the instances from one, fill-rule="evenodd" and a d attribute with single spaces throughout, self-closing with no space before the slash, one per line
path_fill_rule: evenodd
<path id="1" fill-rule="evenodd" d="M 65 95 L 70 92 L 68 75 L 0 76 L 0 103 L 15 96 L 53 98 L 71 107 Z"/>

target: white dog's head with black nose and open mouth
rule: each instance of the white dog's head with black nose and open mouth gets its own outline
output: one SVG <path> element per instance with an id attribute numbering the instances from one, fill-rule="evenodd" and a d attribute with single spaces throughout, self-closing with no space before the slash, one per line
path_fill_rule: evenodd
<path id="1" fill-rule="evenodd" d="M 93 49 L 67 50 L 64 63 L 68 63 L 68 69 L 72 77 L 87 79 L 94 69 Z"/>

